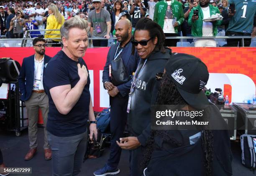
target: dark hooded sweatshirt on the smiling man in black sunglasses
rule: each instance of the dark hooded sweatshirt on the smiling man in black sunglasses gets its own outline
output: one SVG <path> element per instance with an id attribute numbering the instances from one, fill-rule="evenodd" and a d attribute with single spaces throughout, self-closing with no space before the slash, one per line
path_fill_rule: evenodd
<path id="1" fill-rule="evenodd" d="M 164 71 L 167 60 L 171 57 L 172 50 L 166 48 L 166 53 L 160 51 L 149 55 L 147 61 L 141 59 L 136 70 L 136 87 L 131 98 L 131 108 L 128 113 L 128 128 L 133 136 L 137 136 L 142 146 L 151 130 L 151 105 L 155 104 L 159 81 L 156 80 L 156 73 Z M 143 64 L 146 64 L 138 76 Z"/>

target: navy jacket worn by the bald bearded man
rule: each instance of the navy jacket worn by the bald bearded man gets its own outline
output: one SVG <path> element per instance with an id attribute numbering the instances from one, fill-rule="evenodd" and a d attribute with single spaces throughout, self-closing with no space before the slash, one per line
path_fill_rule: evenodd
<path id="1" fill-rule="evenodd" d="M 107 61 L 102 73 L 102 82 L 105 83 L 105 81 L 111 82 L 111 78 L 109 77 L 109 64 L 114 59 L 115 51 L 119 45 L 119 42 L 115 45 L 111 46 L 111 48 L 108 51 Z M 137 51 L 134 53 L 134 55 L 131 55 L 132 51 L 132 43 L 129 42 L 124 48 L 121 53 L 121 58 L 123 59 L 123 65 L 125 66 L 125 69 L 129 75 L 132 75 L 133 72 L 135 72 L 138 63 L 139 63 L 139 56 Z M 125 97 L 129 94 L 131 89 L 131 81 L 129 80 L 127 83 L 118 85 L 118 91 L 120 94 Z"/>

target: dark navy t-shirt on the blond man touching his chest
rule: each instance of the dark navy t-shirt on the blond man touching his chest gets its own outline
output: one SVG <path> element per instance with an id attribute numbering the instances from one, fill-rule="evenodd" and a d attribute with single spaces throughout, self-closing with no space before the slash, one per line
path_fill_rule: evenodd
<path id="1" fill-rule="evenodd" d="M 79 58 L 79 61 L 76 62 L 61 50 L 49 61 L 45 70 L 45 90 L 49 97 L 49 113 L 46 129 L 55 136 L 75 136 L 86 131 L 90 105 L 89 75 L 87 84 L 84 86 L 79 100 L 67 115 L 59 113 L 49 91 L 51 88 L 59 85 L 71 85 L 71 88 L 74 88 L 80 79 L 77 73 L 77 63 L 80 63 L 81 66 L 85 65 L 87 68 L 82 58 Z"/>

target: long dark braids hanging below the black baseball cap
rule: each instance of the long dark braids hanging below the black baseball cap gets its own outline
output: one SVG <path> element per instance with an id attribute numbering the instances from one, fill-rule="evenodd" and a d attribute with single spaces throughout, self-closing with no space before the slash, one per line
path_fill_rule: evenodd
<path id="1" fill-rule="evenodd" d="M 167 74 L 163 75 L 161 85 L 159 87 L 156 99 L 156 105 L 187 105 L 187 102 L 182 98 L 176 85 L 172 82 Z M 141 167 L 146 168 L 148 165 L 151 154 L 154 150 L 154 137 L 161 136 L 163 143 L 171 143 L 173 147 L 179 147 L 179 143 L 175 138 L 169 136 L 166 130 L 151 130 L 151 136 L 147 141 L 147 148 L 144 152 Z M 202 150 L 204 152 L 204 167 L 206 175 L 212 175 L 212 160 L 213 160 L 213 134 L 211 130 L 202 130 L 201 132 Z"/>

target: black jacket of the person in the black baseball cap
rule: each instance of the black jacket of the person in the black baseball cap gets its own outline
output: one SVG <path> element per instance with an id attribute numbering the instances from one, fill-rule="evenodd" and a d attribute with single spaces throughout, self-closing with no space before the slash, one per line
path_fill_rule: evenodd
<path id="1" fill-rule="evenodd" d="M 210 119 L 218 121 L 218 126 L 228 129 L 219 109 L 215 105 L 209 106 Z M 219 129 L 219 128 L 218 128 Z M 223 129 L 223 128 L 220 128 Z M 204 151 L 201 137 L 195 144 L 190 144 L 189 137 L 200 131 L 169 130 L 172 136 L 181 143 L 176 147 L 172 142 L 163 142 L 163 136 L 154 137 L 154 151 L 145 170 L 146 176 L 205 176 Z M 228 130 L 212 130 L 213 133 L 213 161 L 212 176 L 232 175 L 232 152 Z"/>

